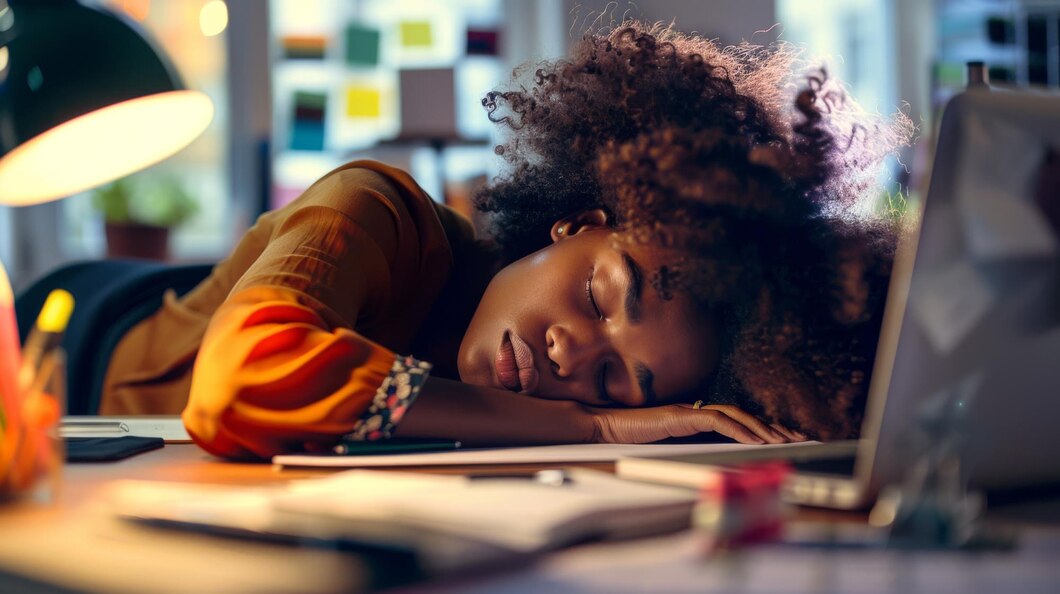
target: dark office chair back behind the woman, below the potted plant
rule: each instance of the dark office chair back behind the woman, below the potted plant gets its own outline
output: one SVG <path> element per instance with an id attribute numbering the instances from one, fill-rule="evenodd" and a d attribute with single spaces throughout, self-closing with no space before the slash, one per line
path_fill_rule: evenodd
<path id="1" fill-rule="evenodd" d="M 167 289 L 183 295 L 212 269 L 212 264 L 142 260 L 76 262 L 52 270 L 23 291 L 15 300 L 23 342 L 53 289 L 65 289 L 74 297 L 73 315 L 63 337 L 67 414 L 96 414 L 107 364 L 122 336 L 161 307 Z"/>

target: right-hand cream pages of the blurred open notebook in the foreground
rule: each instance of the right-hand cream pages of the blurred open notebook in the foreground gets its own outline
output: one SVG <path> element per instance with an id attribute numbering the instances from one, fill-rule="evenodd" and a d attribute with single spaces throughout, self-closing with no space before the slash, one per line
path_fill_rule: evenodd
<path id="1" fill-rule="evenodd" d="M 571 469 L 568 474 L 569 484 L 550 486 L 526 478 L 352 470 L 303 482 L 306 488 L 278 496 L 275 508 L 306 521 L 323 518 L 335 527 L 405 526 L 531 552 L 586 534 L 657 531 L 664 520 L 668 527 L 685 527 L 696 500 L 692 490 L 622 481 L 606 472 Z"/>

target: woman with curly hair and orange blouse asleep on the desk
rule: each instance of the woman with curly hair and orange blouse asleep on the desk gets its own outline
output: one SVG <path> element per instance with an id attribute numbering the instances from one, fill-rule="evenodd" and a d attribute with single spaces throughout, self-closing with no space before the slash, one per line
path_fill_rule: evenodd
<path id="1" fill-rule="evenodd" d="M 795 57 L 586 36 L 483 99 L 506 172 L 481 235 L 406 173 L 342 165 L 124 336 L 101 413 L 182 412 L 231 458 L 855 436 L 897 235 L 855 208 L 909 125 Z"/>

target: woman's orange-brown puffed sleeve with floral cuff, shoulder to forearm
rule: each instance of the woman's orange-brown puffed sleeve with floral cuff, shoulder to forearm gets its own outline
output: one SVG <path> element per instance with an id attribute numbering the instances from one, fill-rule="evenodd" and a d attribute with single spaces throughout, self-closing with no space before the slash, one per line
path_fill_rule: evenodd
<path id="1" fill-rule="evenodd" d="M 426 379 L 428 365 L 352 330 L 416 240 L 391 199 L 355 180 L 332 174 L 289 206 L 211 318 L 182 415 L 207 451 L 269 457 L 385 437 Z"/>

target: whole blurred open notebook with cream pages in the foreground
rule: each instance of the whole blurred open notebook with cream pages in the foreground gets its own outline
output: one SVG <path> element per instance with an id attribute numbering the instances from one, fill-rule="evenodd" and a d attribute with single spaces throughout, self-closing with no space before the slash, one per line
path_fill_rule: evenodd
<path id="1" fill-rule="evenodd" d="M 695 500 L 688 489 L 586 469 L 566 471 L 559 483 L 371 470 L 280 488 L 125 481 L 107 495 L 126 519 L 250 538 L 403 547 L 434 570 L 677 530 L 689 525 Z"/>

